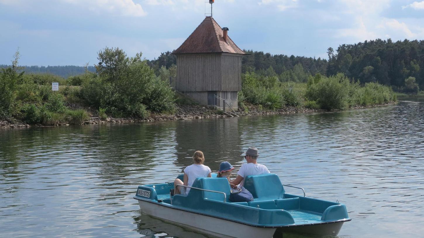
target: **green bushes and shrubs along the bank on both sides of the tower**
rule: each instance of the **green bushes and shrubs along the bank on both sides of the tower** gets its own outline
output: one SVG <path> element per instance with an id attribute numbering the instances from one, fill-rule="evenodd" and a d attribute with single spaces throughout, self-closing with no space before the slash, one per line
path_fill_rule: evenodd
<path id="1" fill-rule="evenodd" d="M 340 110 L 396 101 L 397 95 L 390 86 L 362 82 L 345 73 L 322 75 L 326 60 L 251 53 L 255 57 L 243 58 L 242 90 L 238 93 L 242 112 L 285 108 Z M 148 61 L 141 53 L 129 57 L 122 49 L 106 47 L 98 52 L 95 73 L 86 66 L 84 73 L 66 79 L 48 73 L 26 74 L 18 66 L 19 57 L 17 51 L 12 65 L 0 72 L 1 120 L 46 126 L 82 124 L 93 118 L 173 115 L 181 108 L 200 106 L 171 88 L 176 66 L 175 57 L 169 52 Z M 274 62 L 276 69 L 272 65 L 266 67 L 264 62 Z M 293 67 L 287 71 L 278 62 Z M 313 70 L 308 71 L 302 66 L 305 64 Z M 52 82 L 59 82 L 59 91 L 52 91 Z M 403 88 L 408 93 L 420 92 L 413 76 L 404 80 Z"/>

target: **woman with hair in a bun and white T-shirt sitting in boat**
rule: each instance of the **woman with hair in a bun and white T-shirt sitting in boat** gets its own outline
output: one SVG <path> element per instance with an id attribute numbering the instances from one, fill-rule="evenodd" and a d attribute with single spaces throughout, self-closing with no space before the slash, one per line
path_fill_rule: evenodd
<path id="1" fill-rule="evenodd" d="M 184 169 L 184 182 L 178 178 L 174 181 L 175 194 L 187 195 L 190 191 L 190 188 L 177 185 L 191 187 L 196 178 L 212 177 L 212 171 L 209 167 L 203 164 L 204 161 L 205 157 L 203 152 L 197 150 L 193 155 L 193 164 Z"/>

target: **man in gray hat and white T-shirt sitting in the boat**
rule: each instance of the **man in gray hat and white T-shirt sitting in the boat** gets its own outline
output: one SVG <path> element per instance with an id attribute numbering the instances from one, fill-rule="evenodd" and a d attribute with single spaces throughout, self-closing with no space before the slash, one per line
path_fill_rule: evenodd
<path id="1" fill-rule="evenodd" d="M 258 159 L 258 149 L 254 147 L 249 147 L 246 150 L 244 158 L 247 161 L 247 164 L 243 164 L 240 167 L 240 170 L 237 172 L 237 178 L 231 181 L 230 186 L 233 188 L 241 188 L 244 185 L 244 178 L 249 175 L 260 175 L 260 174 L 269 174 L 268 168 L 263 164 L 258 164 L 256 160 Z"/>

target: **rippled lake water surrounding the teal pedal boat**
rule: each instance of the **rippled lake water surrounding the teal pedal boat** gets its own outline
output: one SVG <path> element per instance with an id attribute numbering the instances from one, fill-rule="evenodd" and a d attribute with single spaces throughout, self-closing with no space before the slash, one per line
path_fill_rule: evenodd
<path id="1" fill-rule="evenodd" d="M 206 237 L 140 214 L 137 186 L 173 181 L 195 150 L 212 171 L 221 161 L 238 170 L 248 146 L 283 183 L 345 203 L 352 221 L 340 237 L 423 235 L 424 101 L 415 100 L 331 113 L 2 129 L 1 237 Z"/>

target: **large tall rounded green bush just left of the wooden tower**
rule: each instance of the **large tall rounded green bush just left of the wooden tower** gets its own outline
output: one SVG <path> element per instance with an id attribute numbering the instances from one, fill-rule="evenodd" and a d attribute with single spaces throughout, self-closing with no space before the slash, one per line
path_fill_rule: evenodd
<path id="1" fill-rule="evenodd" d="M 106 48 L 99 52 L 98 77 L 84 82 L 81 97 L 96 108 L 112 115 L 145 117 L 145 108 L 173 111 L 174 93 L 157 79 L 141 54 L 127 57 L 121 49 Z"/>

